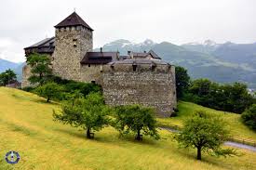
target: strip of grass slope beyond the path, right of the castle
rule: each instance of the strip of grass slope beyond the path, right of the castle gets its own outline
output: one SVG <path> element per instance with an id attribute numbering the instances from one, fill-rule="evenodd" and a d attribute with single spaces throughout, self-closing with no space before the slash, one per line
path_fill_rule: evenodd
<path id="1" fill-rule="evenodd" d="M 195 103 L 180 101 L 178 104 L 179 113 L 177 117 L 171 117 L 166 119 L 157 119 L 160 124 L 171 126 L 178 125 L 182 127 L 182 121 L 192 114 L 195 111 L 207 111 L 211 114 L 218 115 L 222 117 L 225 122 L 228 124 L 228 128 L 231 131 L 231 136 L 234 138 L 251 140 L 256 142 L 256 133 L 249 129 L 248 126 L 242 123 L 241 115 L 226 112 L 226 111 L 216 111 L 209 109 Z"/>

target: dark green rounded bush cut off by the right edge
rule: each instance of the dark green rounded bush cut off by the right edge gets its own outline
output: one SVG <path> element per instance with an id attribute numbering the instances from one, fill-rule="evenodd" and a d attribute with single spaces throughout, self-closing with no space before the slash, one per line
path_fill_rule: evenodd
<path id="1" fill-rule="evenodd" d="M 244 111 L 241 117 L 244 124 L 256 131 L 256 104 L 251 105 L 249 109 Z"/>

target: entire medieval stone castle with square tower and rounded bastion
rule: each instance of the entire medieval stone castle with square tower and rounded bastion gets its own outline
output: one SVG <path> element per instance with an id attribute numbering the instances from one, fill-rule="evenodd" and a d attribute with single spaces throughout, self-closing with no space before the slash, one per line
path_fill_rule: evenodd
<path id="1" fill-rule="evenodd" d="M 25 47 L 32 53 L 47 54 L 52 71 L 63 79 L 102 86 L 109 105 L 141 104 L 154 107 L 167 117 L 176 108 L 175 67 L 154 51 L 128 56 L 118 52 L 93 52 L 93 29 L 75 12 L 55 26 L 55 37 Z M 21 86 L 29 86 L 29 65 L 23 67 Z"/>

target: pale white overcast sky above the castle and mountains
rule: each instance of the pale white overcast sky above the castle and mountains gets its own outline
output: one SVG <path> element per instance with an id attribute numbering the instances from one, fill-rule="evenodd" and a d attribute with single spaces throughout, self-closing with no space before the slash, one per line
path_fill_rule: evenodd
<path id="1" fill-rule="evenodd" d="M 94 47 L 117 39 L 256 42 L 256 0 L 7 0 L 0 6 L 0 59 L 24 61 L 23 48 L 54 36 L 53 26 L 74 9 L 94 29 Z"/>

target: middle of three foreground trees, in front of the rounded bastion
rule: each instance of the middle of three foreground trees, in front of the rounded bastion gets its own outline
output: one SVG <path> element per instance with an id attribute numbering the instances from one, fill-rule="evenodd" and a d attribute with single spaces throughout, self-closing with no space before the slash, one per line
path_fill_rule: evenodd
<path id="1" fill-rule="evenodd" d="M 141 131 L 146 136 L 158 139 L 154 115 L 153 109 L 140 105 L 119 106 L 115 110 L 115 128 L 121 135 L 135 132 L 137 140 L 142 140 Z"/>

